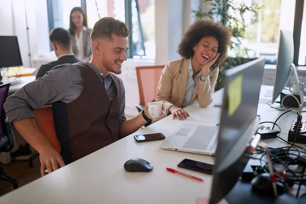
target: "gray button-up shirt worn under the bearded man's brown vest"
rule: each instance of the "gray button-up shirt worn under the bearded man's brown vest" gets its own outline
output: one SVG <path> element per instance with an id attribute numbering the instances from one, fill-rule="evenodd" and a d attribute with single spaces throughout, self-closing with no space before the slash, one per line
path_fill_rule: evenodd
<path id="1" fill-rule="evenodd" d="M 111 75 L 106 79 L 104 73 L 89 62 L 85 62 L 98 75 L 105 85 L 108 100 L 113 100 L 116 95 L 116 85 Z M 125 92 L 122 80 L 119 78 L 121 87 L 121 103 L 119 110 L 119 123 L 126 120 Z M 72 64 L 59 65 L 48 71 L 42 78 L 25 85 L 13 95 L 7 98 L 4 104 L 5 112 L 10 123 L 23 118 L 34 118 L 32 111 L 37 107 L 63 101 L 68 104 L 77 99 L 83 91 L 83 78 L 81 71 Z M 84 104 L 86 106 L 86 104 Z"/>

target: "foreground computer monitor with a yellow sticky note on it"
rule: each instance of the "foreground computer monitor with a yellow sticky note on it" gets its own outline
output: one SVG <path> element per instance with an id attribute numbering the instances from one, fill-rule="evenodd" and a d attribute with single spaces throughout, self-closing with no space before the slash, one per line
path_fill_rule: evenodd
<path id="1" fill-rule="evenodd" d="M 225 70 L 210 203 L 218 203 L 231 191 L 249 160 L 243 155 L 259 126 L 257 109 L 264 65 L 261 58 Z"/>

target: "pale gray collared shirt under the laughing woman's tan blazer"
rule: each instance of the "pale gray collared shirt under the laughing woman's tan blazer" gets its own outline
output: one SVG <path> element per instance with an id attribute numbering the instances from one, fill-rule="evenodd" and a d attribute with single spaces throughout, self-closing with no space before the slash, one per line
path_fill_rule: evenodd
<path id="1" fill-rule="evenodd" d="M 202 70 L 196 75 L 194 79 L 192 78 L 193 69 L 192 69 L 191 59 L 190 59 L 189 66 L 188 66 L 188 78 L 187 78 L 186 92 L 185 92 L 185 96 L 184 96 L 184 100 L 183 100 L 181 108 L 185 108 L 186 106 L 189 106 L 190 100 L 193 95 L 194 88 L 201 74 L 202 74 Z"/>

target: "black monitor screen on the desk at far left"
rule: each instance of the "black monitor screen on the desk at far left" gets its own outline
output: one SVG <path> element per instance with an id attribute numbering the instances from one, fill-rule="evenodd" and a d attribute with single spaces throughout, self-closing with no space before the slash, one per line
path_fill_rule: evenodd
<path id="1" fill-rule="evenodd" d="M 17 36 L 0 36 L 0 68 L 22 66 Z"/>

